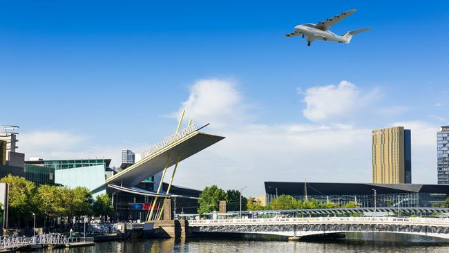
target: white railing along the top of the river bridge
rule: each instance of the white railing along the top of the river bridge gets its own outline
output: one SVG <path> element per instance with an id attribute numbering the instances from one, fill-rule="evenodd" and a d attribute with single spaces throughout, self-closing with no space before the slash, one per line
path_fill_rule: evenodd
<path id="1" fill-rule="evenodd" d="M 189 221 L 189 226 L 204 225 L 276 225 L 300 223 L 391 223 L 405 225 L 436 225 L 449 227 L 449 218 L 397 217 L 316 217 L 316 218 L 242 218 Z"/>

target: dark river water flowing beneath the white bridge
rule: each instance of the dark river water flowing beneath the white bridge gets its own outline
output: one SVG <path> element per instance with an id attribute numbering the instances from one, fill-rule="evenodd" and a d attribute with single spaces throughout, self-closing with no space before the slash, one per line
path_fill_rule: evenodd
<path id="1" fill-rule="evenodd" d="M 42 250 L 46 253 L 94 252 L 449 252 L 449 241 L 403 234 L 347 234 L 329 241 L 266 241 L 254 239 L 138 239 L 97 243 L 90 247 Z"/>

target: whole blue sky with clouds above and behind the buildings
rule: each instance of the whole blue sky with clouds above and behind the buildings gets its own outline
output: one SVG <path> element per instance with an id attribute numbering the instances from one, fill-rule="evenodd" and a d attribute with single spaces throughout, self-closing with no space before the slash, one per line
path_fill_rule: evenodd
<path id="1" fill-rule="evenodd" d="M 351 8 L 358 11 L 331 30 L 372 30 L 349 45 L 315 41 L 307 47 L 305 39 L 283 36 L 297 24 Z M 212 157 L 229 178 L 235 171 L 258 174 L 250 185 L 254 194 L 263 180 L 370 182 L 369 130 L 401 123 L 412 129 L 413 182 L 434 183 L 434 131 L 448 124 L 448 25 L 447 1 L 3 1 L 0 123 L 21 127 L 19 150 L 27 156 L 118 158 L 122 147 L 140 151 L 171 134 L 176 120 L 170 116 L 187 103 L 194 120 L 211 122 L 211 131 L 228 138 L 185 167 L 207 173 Z M 350 85 L 339 86 L 342 81 Z M 189 97 L 201 100 L 200 94 L 224 101 L 211 106 L 216 111 L 195 108 Z M 328 163 L 316 164 L 303 160 L 310 154 L 298 146 L 285 165 L 277 156 L 269 166 L 245 163 L 271 154 L 269 147 L 239 150 L 246 156 L 236 158 L 233 151 L 245 149 L 237 143 L 246 142 L 237 131 L 246 137 L 267 131 L 260 133 L 267 142 L 257 147 L 326 131 L 329 142 L 347 140 L 338 149 L 346 152 L 307 147 L 316 157 L 327 154 Z M 360 139 L 345 137 L 354 133 Z M 358 145 L 367 146 L 363 153 Z M 289 169 L 274 176 L 270 169 L 278 164 Z M 341 176 L 329 176 L 334 169 Z M 222 187 L 244 183 L 209 179 Z"/>

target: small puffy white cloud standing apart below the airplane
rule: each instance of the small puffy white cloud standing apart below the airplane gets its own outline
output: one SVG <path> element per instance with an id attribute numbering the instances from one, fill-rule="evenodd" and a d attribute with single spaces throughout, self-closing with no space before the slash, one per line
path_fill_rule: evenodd
<path id="1" fill-rule="evenodd" d="M 376 90 L 362 94 L 351 82 L 338 85 L 314 86 L 305 91 L 306 109 L 303 115 L 312 122 L 332 122 L 350 119 L 355 111 L 373 102 Z"/>

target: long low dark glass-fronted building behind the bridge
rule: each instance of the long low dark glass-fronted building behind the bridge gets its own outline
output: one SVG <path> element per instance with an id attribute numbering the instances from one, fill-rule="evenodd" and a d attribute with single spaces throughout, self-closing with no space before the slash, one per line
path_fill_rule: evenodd
<path id="1" fill-rule="evenodd" d="M 372 189 L 376 190 L 377 207 L 432 207 L 449 198 L 449 185 L 265 182 L 267 205 L 276 198 L 276 189 L 278 196 L 304 200 L 306 187 L 309 200 L 340 206 L 355 201 L 359 207 L 374 207 Z"/>

